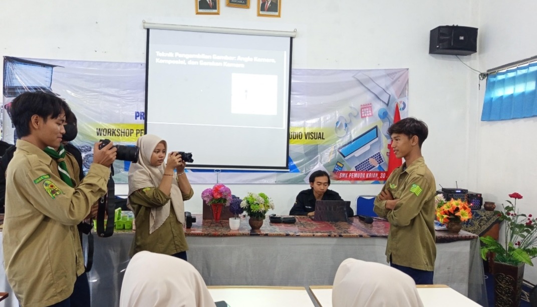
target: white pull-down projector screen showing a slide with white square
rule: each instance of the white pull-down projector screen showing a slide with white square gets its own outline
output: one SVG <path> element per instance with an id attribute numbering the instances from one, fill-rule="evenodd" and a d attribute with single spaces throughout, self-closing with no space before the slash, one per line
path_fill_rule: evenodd
<path id="1" fill-rule="evenodd" d="M 289 35 L 147 31 L 148 134 L 190 168 L 288 170 Z"/>

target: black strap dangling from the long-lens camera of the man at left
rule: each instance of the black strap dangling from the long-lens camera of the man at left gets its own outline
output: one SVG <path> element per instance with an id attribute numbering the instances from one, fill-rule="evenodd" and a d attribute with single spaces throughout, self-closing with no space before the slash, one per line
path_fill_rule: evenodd
<path id="1" fill-rule="evenodd" d="M 115 222 L 115 185 L 114 179 L 114 167 L 110 166 L 112 172 L 110 173 L 110 178 L 108 179 L 108 191 L 106 194 L 99 199 L 99 207 L 97 209 L 97 235 L 99 237 L 110 237 L 114 233 L 114 222 Z M 106 228 L 104 226 L 105 214 L 108 215 L 106 220 Z"/>

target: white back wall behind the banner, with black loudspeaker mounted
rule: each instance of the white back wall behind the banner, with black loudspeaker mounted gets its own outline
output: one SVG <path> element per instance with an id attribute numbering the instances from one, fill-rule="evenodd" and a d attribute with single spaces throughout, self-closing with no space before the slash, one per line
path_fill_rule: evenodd
<path id="1" fill-rule="evenodd" d="M 477 188 L 468 147 L 468 82 L 472 72 L 453 56 L 429 55 L 429 31 L 439 25 L 477 26 L 466 0 L 437 2 L 283 0 L 281 18 L 262 18 L 251 8 L 225 6 L 220 16 L 195 15 L 194 0 L 149 2 L 96 0 L 34 2 L 4 0 L 0 11 L 0 55 L 86 61 L 144 62 L 142 20 L 220 27 L 293 30 L 293 67 L 311 69 L 409 68 L 409 113 L 429 124 L 424 156 L 442 186 Z M 312 3 L 317 3 L 313 5 Z M 324 21 L 323 21 L 324 20 Z M 462 57 L 471 62 L 476 55 Z M 448 145 L 456 144 L 456 150 Z M 225 183 L 225 182 L 224 182 Z M 186 204 L 201 212 L 202 189 Z M 380 185 L 333 185 L 344 199 L 376 194 Z M 237 195 L 266 192 L 275 213 L 285 214 L 307 185 L 231 186 Z M 125 191 L 118 187 L 118 192 Z M 125 193 L 125 192 L 124 192 Z"/>

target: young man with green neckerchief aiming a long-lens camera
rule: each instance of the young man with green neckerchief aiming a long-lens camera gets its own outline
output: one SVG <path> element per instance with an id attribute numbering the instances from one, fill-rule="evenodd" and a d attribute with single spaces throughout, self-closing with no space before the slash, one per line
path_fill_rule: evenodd
<path id="1" fill-rule="evenodd" d="M 84 272 L 76 225 L 106 193 L 113 144 L 93 149 L 93 164 L 73 188 L 65 163 L 45 152 L 59 148 L 69 106 L 42 92 L 13 100 L 17 151 L 6 171 L 4 267 L 21 306 L 70 306 L 77 276 Z"/>

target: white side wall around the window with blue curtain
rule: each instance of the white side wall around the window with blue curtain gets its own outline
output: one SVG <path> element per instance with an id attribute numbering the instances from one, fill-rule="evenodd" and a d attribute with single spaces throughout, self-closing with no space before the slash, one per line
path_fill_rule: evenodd
<path id="1" fill-rule="evenodd" d="M 537 2 L 530 0 L 481 2 L 478 10 L 481 71 L 537 55 L 535 11 Z M 479 114 L 483 96 L 484 87 L 473 103 L 480 107 Z M 517 202 L 520 213 L 537 214 L 537 145 L 533 140 L 537 118 L 481 122 L 478 117 L 476 123 L 477 188 L 497 206 L 509 199 L 507 194 L 518 192 L 524 196 Z M 526 266 L 524 279 L 535 283 L 537 269 Z"/>

